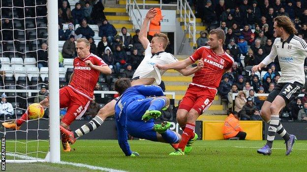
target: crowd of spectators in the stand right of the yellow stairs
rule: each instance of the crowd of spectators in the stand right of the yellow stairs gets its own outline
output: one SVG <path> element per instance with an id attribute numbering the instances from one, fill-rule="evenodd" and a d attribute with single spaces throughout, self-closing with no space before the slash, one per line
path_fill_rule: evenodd
<path id="1" fill-rule="evenodd" d="M 271 52 L 276 39 L 273 27 L 276 16 L 288 16 L 298 30 L 297 35 L 307 40 L 307 2 L 302 0 L 194 0 L 191 4 L 195 5 L 196 16 L 202 19 L 208 31 L 213 28 L 224 30 L 226 39 L 223 48 L 235 60 L 232 68 L 223 75 L 218 88 L 222 100 L 228 103 L 229 110 L 234 108 L 240 113 L 242 120 L 261 120 L 261 117 L 256 114 L 261 109 L 266 96 L 257 97 L 255 93 L 270 93 L 274 89 L 280 78 L 280 66 L 276 58 L 260 73 L 251 72 L 251 68 L 259 64 Z M 200 32 L 200 37 L 197 39 L 198 47 L 208 45 L 208 31 Z M 305 73 L 307 73 L 307 63 L 305 66 Z M 234 104 L 233 93 L 238 93 Z M 302 93 L 306 93 L 305 89 Z M 280 115 L 287 119 L 306 120 L 307 106 L 304 109 L 304 103 L 296 106 L 296 101 L 291 102 Z M 296 110 L 293 111 L 293 108 Z"/>

